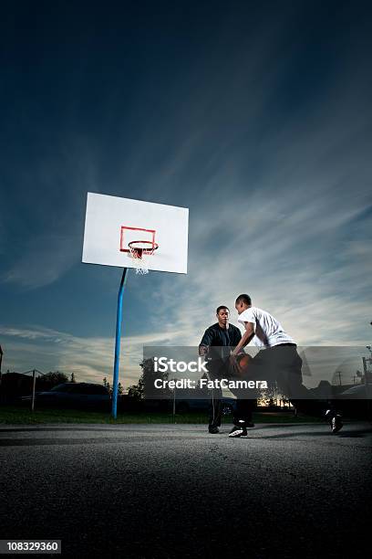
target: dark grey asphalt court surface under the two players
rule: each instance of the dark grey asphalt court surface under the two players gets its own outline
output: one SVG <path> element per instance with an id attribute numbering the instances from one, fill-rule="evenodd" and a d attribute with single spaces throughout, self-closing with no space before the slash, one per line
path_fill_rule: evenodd
<path id="1" fill-rule="evenodd" d="M 364 556 L 370 423 L 0 427 L 1 539 L 62 555 Z"/>

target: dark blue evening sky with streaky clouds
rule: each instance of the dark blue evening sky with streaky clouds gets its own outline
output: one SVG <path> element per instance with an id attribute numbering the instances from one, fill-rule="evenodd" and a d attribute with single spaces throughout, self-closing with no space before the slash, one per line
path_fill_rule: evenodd
<path id="1" fill-rule="evenodd" d="M 299 343 L 368 341 L 369 3 L 1 12 L 5 367 L 109 374 L 120 270 L 80 262 L 88 191 L 190 207 L 188 276 L 129 278 L 133 378 L 242 291 Z"/>

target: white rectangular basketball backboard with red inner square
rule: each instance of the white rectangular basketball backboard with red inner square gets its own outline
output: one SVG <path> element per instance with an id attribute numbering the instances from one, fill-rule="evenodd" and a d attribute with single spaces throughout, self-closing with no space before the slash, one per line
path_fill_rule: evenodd
<path id="1" fill-rule="evenodd" d="M 136 268 L 128 243 L 159 245 L 148 269 L 187 273 L 189 209 L 88 192 L 82 261 Z"/>

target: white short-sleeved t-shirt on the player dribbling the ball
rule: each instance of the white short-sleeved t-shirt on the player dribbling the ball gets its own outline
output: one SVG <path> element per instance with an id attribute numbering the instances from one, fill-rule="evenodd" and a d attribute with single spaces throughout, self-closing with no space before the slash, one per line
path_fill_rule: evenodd
<path id="1" fill-rule="evenodd" d="M 280 343 L 294 343 L 293 338 L 284 332 L 282 324 L 270 312 L 250 307 L 245 309 L 238 318 L 238 322 L 251 322 L 254 326 L 252 342 L 257 347 L 274 347 Z"/>

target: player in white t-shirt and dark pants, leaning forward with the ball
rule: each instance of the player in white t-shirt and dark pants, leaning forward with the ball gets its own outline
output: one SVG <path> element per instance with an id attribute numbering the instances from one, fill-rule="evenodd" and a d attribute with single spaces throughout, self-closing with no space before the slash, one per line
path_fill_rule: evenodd
<path id="1" fill-rule="evenodd" d="M 276 381 L 284 394 L 292 396 L 291 401 L 296 407 L 304 404 L 309 395 L 307 388 L 302 384 L 302 359 L 297 353 L 294 339 L 284 331 L 282 324 L 270 312 L 253 307 L 249 295 L 239 295 L 235 301 L 235 309 L 239 314 L 238 322 L 243 324 L 245 332 L 233 350 L 232 364 L 243 348 L 253 342 L 260 348 L 260 352 L 249 365 L 251 374 L 257 374 L 263 380 Z M 333 406 L 327 410 L 325 417 L 333 433 L 343 427 L 341 417 Z M 245 431 L 244 427 L 234 427 L 229 437 L 244 437 Z"/>

